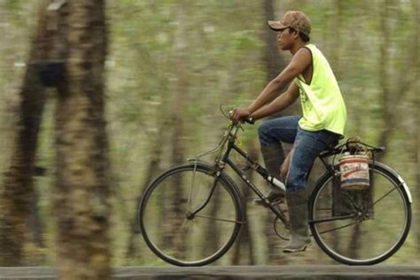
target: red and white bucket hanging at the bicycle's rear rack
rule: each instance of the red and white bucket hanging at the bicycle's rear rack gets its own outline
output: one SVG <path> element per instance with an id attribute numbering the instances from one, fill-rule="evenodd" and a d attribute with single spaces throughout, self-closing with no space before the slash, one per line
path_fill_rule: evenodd
<path id="1" fill-rule="evenodd" d="M 339 159 L 341 188 L 360 191 L 369 188 L 369 157 L 366 154 L 345 155 Z"/>

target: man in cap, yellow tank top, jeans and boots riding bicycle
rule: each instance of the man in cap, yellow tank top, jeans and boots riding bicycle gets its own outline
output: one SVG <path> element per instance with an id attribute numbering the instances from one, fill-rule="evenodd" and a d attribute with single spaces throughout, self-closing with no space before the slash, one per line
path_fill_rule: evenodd
<path id="1" fill-rule="evenodd" d="M 280 49 L 292 53 L 292 61 L 268 83 L 251 105 L 234 109 L 231 118 L 233 121 L 247 117 L 258 120 L 284 110 L 300 97 L 302 117 L 271 119 L 263 122 L 258 129 L 268 173 L 285 184 L 291 238 L 284 252 L 293 253 L 304 251 L 310 244 L 307 175 L 319 153 L 344 134 L 346 105 L 327 59 L 314 44 L 308 43 L 311 23 L 307 15 L 289 11 L 280 21 L 268 21 L 268 26 L 277 32 Z M 276 97 L 278 90 L 289 82 L 288 89 Z M 276 99 L 268 103 L 273 97 Z M 293 144 L 287 159 L 284 159 L 282 142 Z M 284 196 L 280 189 L 271 188 L 269 201 Z"/>

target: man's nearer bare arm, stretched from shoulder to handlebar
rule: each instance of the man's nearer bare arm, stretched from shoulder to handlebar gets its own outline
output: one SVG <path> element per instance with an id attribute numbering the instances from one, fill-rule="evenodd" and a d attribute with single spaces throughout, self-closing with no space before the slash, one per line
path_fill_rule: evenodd
<path id="1" fill-rule="evenodd" d="M 301 74 L 307 66 L 310 66 L 311 63 L 311 52 L 307 50 L 307 48 L 300 48 L 293 56 L 289 65 L 284 68 L 282 73 L 278 74 L 276 78 L 268 83 L 267 87 L 262 90 L 261 94 L 251 105 L 247 108 L 237 108 L 233 110 L 231 114 L 232 120 L 239 121 L 260 109 L 268 100 L 276 95 L 278 90 L 282 89 L 287 83 L 292 82 L 292 80 Z"/>

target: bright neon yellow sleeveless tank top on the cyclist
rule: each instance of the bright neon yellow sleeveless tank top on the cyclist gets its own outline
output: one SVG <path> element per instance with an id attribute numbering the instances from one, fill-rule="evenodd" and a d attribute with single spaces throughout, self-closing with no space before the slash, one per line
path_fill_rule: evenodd
<path id="1" fill-rule="evenodd" d="M 299 126 L 308 131 L 326 129 L 344 135 L 346 105 L 336 77 L 323 53 L 314 44 L 305 46 L 312 52 L 312 81 L 305 82 L 302 74 L 294 79 L 299 87 L 303 117 Z"/>

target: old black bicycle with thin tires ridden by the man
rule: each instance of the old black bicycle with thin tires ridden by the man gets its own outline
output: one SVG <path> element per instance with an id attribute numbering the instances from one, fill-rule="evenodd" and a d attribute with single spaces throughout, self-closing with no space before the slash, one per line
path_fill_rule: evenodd
<path id="1" fill-rule="evenodd" d="M 242 124 L 229 121 L 219 145 L 203 154 L 219 152 L 213 163 L 199 157 L 189 159 L 189 163 L 163 172 L 144 189 L 138 208 L 140 230 L 146 245 L 163 261 L 176 266 L 202 266 L 221 258 L 234 244 L 246 222 L 245 202 L 237 183 L 225 172 L 228 166 L 275 214 L 276 235 L 288 239 L 284 199 L 269 203 L 229 157 L 232 151 L 237 152 L 248 168 L 268 183 L 278 184 L 238 147 L 239 129 L 243 129 Z M 408 185 L 393 169 L 375 160 L 374 155 L 385 148 L 364 145 L 371 154 L 370 191 L 363 195 L 360 191 L 341 191 L 339 199 L 346 207 L 338 207 L 335 190 L 340 170 L 336 158 L 349 148 L 346 143 L 336 144 L 319 155 L 326 171 L 308 199 L 311 236 L 324 253 L 347 265 L 372 265 L 390 258 L 403 245 L 411 224 Z M 366 203 L 369 198 L 370 203 Z"/>

